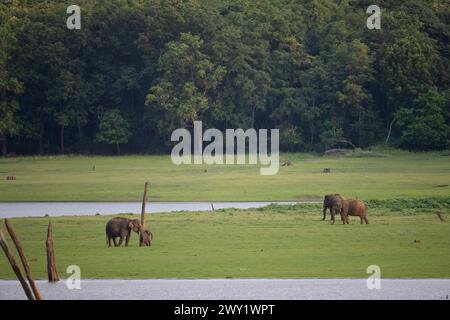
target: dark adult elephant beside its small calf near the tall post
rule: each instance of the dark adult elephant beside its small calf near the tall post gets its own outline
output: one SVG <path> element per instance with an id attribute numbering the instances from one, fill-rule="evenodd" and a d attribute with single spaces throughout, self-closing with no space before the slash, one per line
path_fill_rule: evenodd
<path id="1" fill-rule="evenodd" d="M 125 238 L 125 246 L 128 247 L 130 242 L 131 231 L 136 233 L 144 232 L 141 221 L 139 219 L 127 219 L 127 218 L 112 218 L 106 224 L 106 244 L 111 247 L 111 239 L 114 242 L 115 247 L 120 247 Z M 119 237 L 120 241 L 117 244 L 116 238 Z"/>

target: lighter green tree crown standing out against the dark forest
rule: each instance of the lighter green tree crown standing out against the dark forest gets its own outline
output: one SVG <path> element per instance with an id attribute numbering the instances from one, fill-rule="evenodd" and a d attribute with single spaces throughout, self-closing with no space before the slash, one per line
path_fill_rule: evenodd
<path id="1" fill-rule="evenodd" d="M 167 44 L 158 61 L 161 77 L 150 88 L 146 105 L 159 109 L 164 117 L 158 121 L 161 131 L 192 126 L 214 105 L 214 91 L 225 74 L 225 68 L 214 65 L 202 52 L 203 40 L 190 33 Z M 174 126 L 168 124 L 174 124 Z"/>

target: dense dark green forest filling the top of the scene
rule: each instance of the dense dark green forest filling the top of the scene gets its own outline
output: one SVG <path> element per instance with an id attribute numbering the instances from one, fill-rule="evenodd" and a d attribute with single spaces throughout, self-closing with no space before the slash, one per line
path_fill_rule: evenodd
<path id="1" fill-rule="evenodd" d="M 170 133 L 280 128 L 287 151 L 449 145 L 450 5 L 373 1 L 0 4 L 2 154 L 159 153 Z"/>

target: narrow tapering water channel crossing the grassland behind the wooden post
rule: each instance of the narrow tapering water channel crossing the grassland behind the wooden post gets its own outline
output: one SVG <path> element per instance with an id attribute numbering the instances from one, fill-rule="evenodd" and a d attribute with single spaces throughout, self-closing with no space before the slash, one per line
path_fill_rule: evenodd
<path id="1" fill-rule="evenodd" d="M 213 202 L 212 206 L 214 209 L 248 209 L 271 203 L 297 202 Z M 211 202 L 151 202 L 147 203 L 147 212 L 209 211 L 212 206 Z M 1 202 L 0 218 L 141 213 L 141 207 L 141 202 Z"/>

